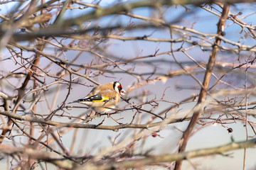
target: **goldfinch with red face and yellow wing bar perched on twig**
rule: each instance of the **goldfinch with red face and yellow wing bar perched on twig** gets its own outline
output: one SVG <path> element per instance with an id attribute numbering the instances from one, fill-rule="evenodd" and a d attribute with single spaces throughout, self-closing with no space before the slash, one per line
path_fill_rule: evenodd
<path id="1" fill-rule="evenodd" d="M 120 95 L 124 96 L 126 91 L 122 89 L 119 82 L 114 81 L 109 84 L 102 84 L 90 91 L 85 98 L 70 103 L 82 103 L 92 108 L 96 113 L 108 113 L 111 108 L 115 108 L 119 101 Z"/>

